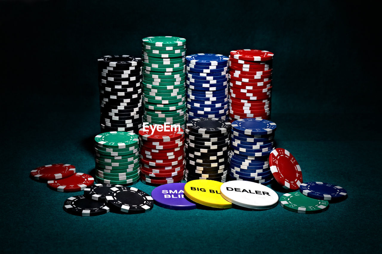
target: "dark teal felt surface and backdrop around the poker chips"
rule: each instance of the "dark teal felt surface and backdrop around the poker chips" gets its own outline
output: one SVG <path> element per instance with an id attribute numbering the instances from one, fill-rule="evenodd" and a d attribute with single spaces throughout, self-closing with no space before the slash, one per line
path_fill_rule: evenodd
<path id="1" fill-rule="evenodd" d="M 367 252 L 381 248 L 380 13 L 368 1 L 0 2 L 2 250 L 15 252 Z M 76 217 L 71 193 L 28 178 L 45 164 L 94 168 L 97 58 L 140 56 L 141 39 L 187 39 L 187 55 L 272 51 L 272 121 L 304 182 L 349 198 L 321 214 L 172 211 Z M 151 193 L 154 187 L 138 183 Z M 277 189 L 279 196 L 282 190 Z M 74 195 L 79 195 L 80 192 Z"/>

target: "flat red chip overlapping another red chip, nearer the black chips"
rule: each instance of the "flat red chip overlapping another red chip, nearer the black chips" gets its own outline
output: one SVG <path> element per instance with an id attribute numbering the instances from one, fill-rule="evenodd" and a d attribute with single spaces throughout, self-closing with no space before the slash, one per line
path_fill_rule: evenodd
<path id="1" fill-rule="evenodd" d="M 94 183 L 94 178 L 91 175 L 84 173 L 76 173 L 70 177 L 48 181 L 49 188 L 56 191 L 74 192 L 84 190 L 87 186 Z"/>

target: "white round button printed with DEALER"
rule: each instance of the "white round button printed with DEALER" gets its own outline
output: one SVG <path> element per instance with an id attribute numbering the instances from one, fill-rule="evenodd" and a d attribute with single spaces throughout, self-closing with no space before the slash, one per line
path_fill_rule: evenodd
<path id="1" fill-rule="evenodd" d="M 278 195 L 274 190 L 249 181 L 223 183 L 220 194 L 228 202 L 250 209 L 270 209 L 278 204 Z"/>

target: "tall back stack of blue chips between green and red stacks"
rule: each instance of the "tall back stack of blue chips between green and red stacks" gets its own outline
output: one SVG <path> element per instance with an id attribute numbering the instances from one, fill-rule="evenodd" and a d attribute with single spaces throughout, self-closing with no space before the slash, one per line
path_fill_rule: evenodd
<path id="1" fill-rule="evenodd" d="M 228 57 L 186 56 L 187 119 L 228 119 Z"/>

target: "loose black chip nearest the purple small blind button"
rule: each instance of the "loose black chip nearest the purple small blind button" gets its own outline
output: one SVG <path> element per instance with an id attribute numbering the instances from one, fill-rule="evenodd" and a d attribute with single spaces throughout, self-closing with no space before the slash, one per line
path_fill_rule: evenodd
<path id="1" fill-rule="evenodd" d="M 147 212 L 154 206 L 154 201 L 146 192 L 134 187 L 114 186 L 105 196 L 110 210 L 134 214 Z"/>

